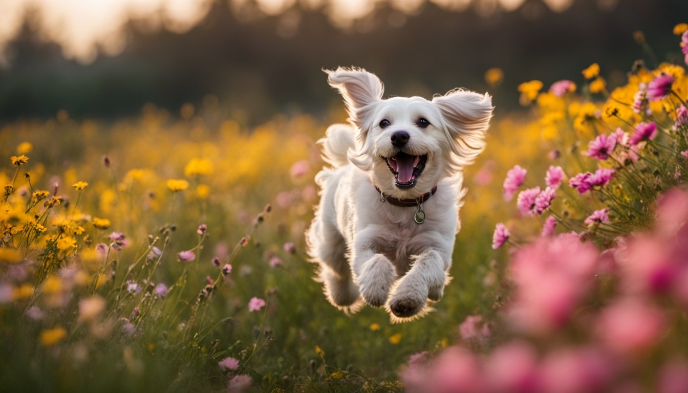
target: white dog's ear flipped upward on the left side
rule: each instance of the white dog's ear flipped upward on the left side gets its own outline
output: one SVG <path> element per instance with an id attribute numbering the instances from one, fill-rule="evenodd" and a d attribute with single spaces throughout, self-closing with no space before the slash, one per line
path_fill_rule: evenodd
<path id="1" fill-rule="evenodd" d="M 349 118 L 358 129 L 365 132 L 365 123 L 374 103 L 383 98 L 385 87 L 380 78 L 362 68 L 338 67 L 336 70 L 323 70 L 327 82 L 339 90 L 346 103 Z"/>

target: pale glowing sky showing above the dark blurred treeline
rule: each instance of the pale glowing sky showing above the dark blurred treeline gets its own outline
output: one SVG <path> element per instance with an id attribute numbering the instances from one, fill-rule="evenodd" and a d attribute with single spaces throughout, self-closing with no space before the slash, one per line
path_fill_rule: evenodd
<path id="1" fill-rule="evenodd" d="M 240 6 L 246 0 L 228 0 Z M 298 0 L 257 0 L 267 14 L 279 14 Z M 319 7 L 327 3 L 327 14 L 336 25 L 345 26 L 363 17 L 382 0 L 300 0 L 305 6 Z M 417 10 L 424 0 L 388 0 L 402 11 Z M 501 6 L 518 8 L 525 0 L 430 0 L 449 9 L 462 9 L 473 1 L 481 1 L 486 9 Z M 543 0 L 553 10 L 566 9 L 573 0 Z M 120 26 L 129 17 L 143 19 L 151 27 L 164 24 L 184 32 L 203 19 L 208 0 L 0 0 L 0 51 L 17 33 L 25 10 L 38 11 L 47 38 L 60 43 L 65 56 L 89 62 L 95 59 L 97 45 L 106 53 L 117 54 L 125 43 Z M 163 15 L 164 17 L 160 17 Z"/>

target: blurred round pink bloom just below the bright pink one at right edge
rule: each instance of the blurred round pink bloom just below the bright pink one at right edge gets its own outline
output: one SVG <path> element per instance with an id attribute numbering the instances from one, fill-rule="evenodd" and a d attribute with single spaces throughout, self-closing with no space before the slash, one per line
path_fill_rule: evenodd
<path id="1" fill-rule="evenodd" d="M 627 298 L 601 311 L 595 333 L 611 350 L 635 352 L 652 346 L 666 326 L 662 310 L 644 300 Z"/>

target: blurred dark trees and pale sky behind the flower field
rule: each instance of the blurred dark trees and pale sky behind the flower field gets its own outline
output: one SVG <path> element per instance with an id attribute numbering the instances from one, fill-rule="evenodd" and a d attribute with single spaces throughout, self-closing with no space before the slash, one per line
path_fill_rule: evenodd
<path id="1" fill-rule="evenodd" d="M 530 79 L 579 81 L 598 61 L 614 86 L 628 59 L 671 61 L 667 26 L 686 15 L 685 0 L 0 0 L 0 120 L 146 103 L 215 105 L 244 125 L 319 116 L 341 106 L 321 72 L 338 65 L 390 96 L 468 87 L 503 111 Z M 508 72 L 488 85 L 493 67 Z"/>

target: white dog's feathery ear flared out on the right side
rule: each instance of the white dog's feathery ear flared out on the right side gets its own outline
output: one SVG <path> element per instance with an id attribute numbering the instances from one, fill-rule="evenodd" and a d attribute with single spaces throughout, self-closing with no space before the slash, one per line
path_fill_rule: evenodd
<path id="1" fill-rule="evenodd" d="M 452 90 L 432 100 L 442 112 L 444 131 L 460 166 L 470 164 L 485 147 L 492 118 L 492 97 L 464 89 Z"/>

